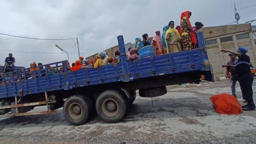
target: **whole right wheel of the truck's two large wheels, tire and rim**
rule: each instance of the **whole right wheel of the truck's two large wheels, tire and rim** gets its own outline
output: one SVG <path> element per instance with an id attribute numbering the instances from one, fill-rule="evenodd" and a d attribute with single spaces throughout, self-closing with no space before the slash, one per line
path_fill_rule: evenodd
<path id="1" fill-rule="evenodd" d="M 121 121 L 126 114 L 126 110 L 127 99 L 118 91 L 104 91 L 96 100 L 97 114 L 106 123 L 117 123 Z"/>

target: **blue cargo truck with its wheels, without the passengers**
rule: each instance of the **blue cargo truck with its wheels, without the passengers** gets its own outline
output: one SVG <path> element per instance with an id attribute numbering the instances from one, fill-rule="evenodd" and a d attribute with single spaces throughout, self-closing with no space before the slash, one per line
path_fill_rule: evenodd
<path id="1" fill-rule="evenodd" d="M 0 117 L 56 113 L 63 107 L 72 125 L 87 122 L 96 112 L 107 123 L 121 121 L 136 98 L 167 93 L 166 86 L 214 81 L 206 48 L 127 61 L 123 36 L 118 36 L 121 62 L 69 71 L 67 61 L 2 73 Z M 199 38 L 198 40 L 203 40 Z M 202 43 L 202 42 L 201 42 Z M 36 106 L 45 111 L 33 112 Z"/>

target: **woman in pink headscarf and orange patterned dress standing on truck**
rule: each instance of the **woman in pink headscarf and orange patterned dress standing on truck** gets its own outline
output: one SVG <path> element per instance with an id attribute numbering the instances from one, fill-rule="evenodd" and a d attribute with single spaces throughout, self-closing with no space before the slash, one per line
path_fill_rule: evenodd
<path id="1" fill-rule="evenodd" d="M 162 55 L 165 54 L 163 50 L 163 44 L 162 44 L 162 38 L 161 38 L 161 33 L 160 30 L 155 31 L 155 36 L 152 39 L 152 45 L 155 49 L 156 55 Z"/>

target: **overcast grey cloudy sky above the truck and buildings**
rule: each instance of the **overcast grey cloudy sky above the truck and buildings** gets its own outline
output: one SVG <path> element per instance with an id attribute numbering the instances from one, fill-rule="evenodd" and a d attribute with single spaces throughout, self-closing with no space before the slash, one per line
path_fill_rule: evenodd
<path id="1" fill-rule="evenodd" d="M 47 39 L 78 37 L 80 52 L 96 53 L 118 44 L 123 35 L 125 43 L 148 33 L 154 36 L 170 20 L 178 25 L 180 14 L 191 11 L 191 23 L 204 26 L 225 25 L 235 21 L 237 8 L 256 5 L 255 0 L 2 0 L 0 1 L 0 33 Z M 256 19 L 256 6 L 238 10 L 239 23 Z M 252 23 L 256 25 L 256 22 Z M 0 50 L 59 53 L 55 44 L 65 49 L 69 59 L 78 59 L 77 46 L 72 40 L 46 41 L 0 35 Z M 7 51 L 0 51 L 0 65 Z M 43 64 L 67 59 L 64 54 L 35 54 L 12 52 L 16 66 L 29 67 L 31 62 Z M 90 54 L 81 54 L 89 56 Z"/>

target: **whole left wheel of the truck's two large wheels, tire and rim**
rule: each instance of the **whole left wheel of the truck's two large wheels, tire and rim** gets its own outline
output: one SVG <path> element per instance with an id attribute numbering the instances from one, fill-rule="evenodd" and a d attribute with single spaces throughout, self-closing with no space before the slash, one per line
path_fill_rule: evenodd
<path id="1" fill-rule="evenodd" d="M 88 99 L 80 95 L 74 95 L 65 101 L 63 114 L 68 123 L 72 125 L 82 125 L 89 119 L 91 109 L 91 104 Z"/>

